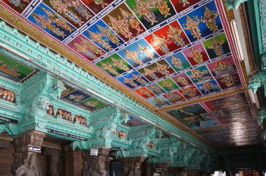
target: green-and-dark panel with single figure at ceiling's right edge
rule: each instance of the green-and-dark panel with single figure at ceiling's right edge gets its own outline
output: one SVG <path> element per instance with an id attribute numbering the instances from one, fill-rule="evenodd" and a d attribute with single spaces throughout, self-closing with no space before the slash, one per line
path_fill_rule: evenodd
<path id="1" fill-rule="evenodd" d="M 202 42 L 205 49 L 207 50 L 209 57 L 214 59 L 216 57 L 221 57 L 223 54 L 230 53 L 230 47 L 228 45 L 228 39 L 225 34 L 219 34 L 207 41 Z"/>

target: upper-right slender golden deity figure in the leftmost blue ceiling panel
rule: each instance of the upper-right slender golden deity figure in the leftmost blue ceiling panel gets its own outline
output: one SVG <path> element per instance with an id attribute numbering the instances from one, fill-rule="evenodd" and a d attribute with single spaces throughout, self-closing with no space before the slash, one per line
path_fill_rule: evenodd
<path id="1" fill-rule="evenodd" d="M 74 29 L 71 28 L 71 26 L 69 24 L 67 24 L 64 20 L 62 20 L 57 14 L 52 13 L 49 10 L 46 10 L 45 8 L 39 6 L 39 8 L 41 8 L 41 10 L 43 10 L 43 12 L 48 15 L 48 18 L 51 20 L 51 22 L 55 22 L 55 24 L 57 24 L 57 26 L 61 27 L 62 29 L 66 30 L 66 31 L 73 31 Z"/>

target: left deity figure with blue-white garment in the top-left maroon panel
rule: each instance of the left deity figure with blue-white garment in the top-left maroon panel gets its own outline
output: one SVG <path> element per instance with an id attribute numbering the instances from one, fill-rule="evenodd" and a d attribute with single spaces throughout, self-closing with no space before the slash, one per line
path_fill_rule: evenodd
<path id="1" fill-rule="evenodd" d="M 81 26 L 84 23 L 83 21 L 81 21 L 81 18 L 78 17 L 76 13 L 73 13 L 73 11 L 69 9 L 68 5 L 66 3 L 63 3 L 61 0 L 50 0 L 50 3 L 52 7 L 57 10 L 58 13 L 64 14 L 64 16 L 66 16 L 75 24 Z"/>

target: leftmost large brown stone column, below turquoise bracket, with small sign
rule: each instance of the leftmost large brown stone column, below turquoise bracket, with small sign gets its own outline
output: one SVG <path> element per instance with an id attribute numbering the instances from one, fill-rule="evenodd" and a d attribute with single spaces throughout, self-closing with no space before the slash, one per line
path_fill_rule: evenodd
<path id="1" fill-rule="evenodd" d="M 44 136 L 45 134 L 40 131 L 27 131 L 19 135 L 18 138 L 14 138 L 13 145 L 15 149 L 15 159 L 11 166 L 11 172 L 13 175 L 15 175 L 16 170 L 20 167 L 27 168 L 29 165 L 38 166 L 38 161 L 36 161 L 36 152 L 29 152 L 28 148 L 29 145 L 41 147 Z"/>

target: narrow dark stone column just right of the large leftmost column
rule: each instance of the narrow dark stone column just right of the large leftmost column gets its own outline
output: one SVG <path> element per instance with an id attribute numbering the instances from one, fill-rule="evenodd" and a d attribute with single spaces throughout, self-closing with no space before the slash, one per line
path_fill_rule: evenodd
<path id="1" fill-rule="evenodd" d="M 59 176 L 58 164 L 59 156 L 61 155 L 60 150 L 45 147 L 45 153 L 48 155 L 48 175 Z"/>

